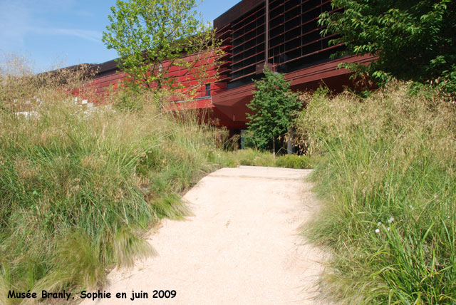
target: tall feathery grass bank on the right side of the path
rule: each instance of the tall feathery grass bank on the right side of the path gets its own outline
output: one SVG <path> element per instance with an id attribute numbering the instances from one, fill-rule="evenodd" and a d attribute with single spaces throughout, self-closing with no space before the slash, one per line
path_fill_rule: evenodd
<path id="1" fill-rule="evenodd" d="M 306 232 L 334 250 L 341 304 L 456 304 L 456 112 L 403 83 L 361 99 L 316 93 L 299 126 L 323 198 Z"/>

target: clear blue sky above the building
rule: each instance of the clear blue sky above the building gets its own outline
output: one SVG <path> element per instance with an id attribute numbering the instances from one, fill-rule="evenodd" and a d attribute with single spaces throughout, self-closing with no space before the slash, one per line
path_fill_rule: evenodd
<path id="1" fill-rule="evenodd" d="M 240 0 L 204 0 L 212 21 Z M 0 52 L 26 56 L 34 69 L 103 63 L 117 57 L 101 42 L 115 0 L 0 0 Z"/>

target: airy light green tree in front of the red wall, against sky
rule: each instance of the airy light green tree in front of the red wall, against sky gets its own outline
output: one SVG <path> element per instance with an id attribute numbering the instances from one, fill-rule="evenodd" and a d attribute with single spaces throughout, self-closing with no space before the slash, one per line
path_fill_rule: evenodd
<path id="1" fill-rule="evenodd" d="M 119 65 L 134 88 L 181 89 L 192 95 L 214 81 L 209 68 L 221 55 L 214 29 L 197 19 L 195 0 L 130 0 L 116 2 L 108 16 L 103 42 L 118 51 Z M 188 55 L 188 56 L 187 56 Z M 184 68 L 181 78 L 193 78 L 192 87 L 170 71 Z M 216 76 L 215 76 L 216 77 Z"/>

